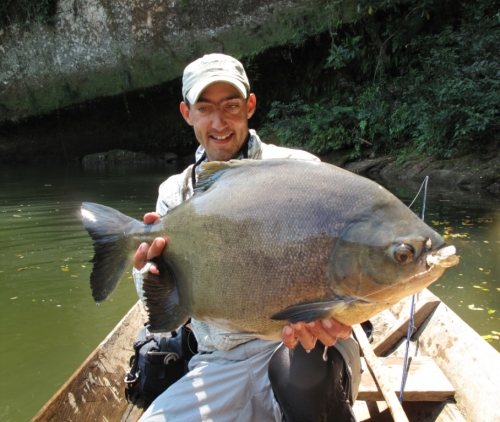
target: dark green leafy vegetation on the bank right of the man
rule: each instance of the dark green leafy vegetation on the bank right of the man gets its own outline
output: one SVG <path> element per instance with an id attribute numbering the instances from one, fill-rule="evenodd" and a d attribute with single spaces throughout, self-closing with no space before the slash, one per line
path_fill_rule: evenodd
<path id="1" fill-rule="evenodd" d="M 499 0 L 362 0 L 357 11 L 355 22 L 332 23 L 300 89 L 270 105 L 264 136 L 353 158 L 498 146 Z"/>

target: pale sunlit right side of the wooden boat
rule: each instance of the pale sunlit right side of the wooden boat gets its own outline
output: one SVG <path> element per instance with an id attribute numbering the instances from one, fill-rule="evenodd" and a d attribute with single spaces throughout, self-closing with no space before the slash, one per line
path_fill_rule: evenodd
<path id="1" fill-rule="evenodd" d="M 456 389 L 455 399 L 475 422 L 500 421 L 500 353 L 444 303 L 417 333 Z"/>

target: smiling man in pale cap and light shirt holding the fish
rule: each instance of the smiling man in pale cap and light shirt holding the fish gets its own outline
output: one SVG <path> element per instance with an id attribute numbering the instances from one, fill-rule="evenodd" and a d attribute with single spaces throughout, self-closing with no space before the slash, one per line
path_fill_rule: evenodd
<path id="1" fill-rule="evenodd" d="M 189 64 L 184 71 L 182 93 L 181 114 L 200 143 L 196 164 L 160 186 L 156 213 L 146 214 L 146 223 L 152 223 L 193 195 L 198 166 L 203 161 L 318 160 L 304 151 L 266 145 L 254 130 L 249 130 L 248 119 L 255 112 L 257 100 L 250 93 L 242 64 L 230 56 L 210 54 Z M 164 247 L 168 247 L 165 239 L 157 238 L 137 250 L 134 279 L 140 295 L 141 273 L 158 274 L 147 261 L 159 256 Z M 208 323 L 192 320 L 191 324 L 200 353 L 191 359 L 190 372 L 160 395 L 141 421 L 281 421 L 282 401 L 288 400 L 287 387 L 281 394 L 276 382 L 271 385 L 268 375 L 269 362 L 281 342 L 226 337 L 223 330 Z M 282 342 L 289 349 L 300 342 L 301 350 L 311 351 L 317 340 L 332 346 L 337 338 L 348 339 L 350 333 L 350 327 L 333 319 L 289 324 L 283 328 Z M 275 371 L 278 378 L 280 371 Z"/>

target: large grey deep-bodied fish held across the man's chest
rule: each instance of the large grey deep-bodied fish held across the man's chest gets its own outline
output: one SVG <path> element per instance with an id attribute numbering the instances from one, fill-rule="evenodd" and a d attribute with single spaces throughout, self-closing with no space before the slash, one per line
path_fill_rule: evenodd
<path id="1" fill-rule="evenodd" d="M 150 331 L 189 317 L 280 338 L 288 322 L 352 325 L 421 291 L 458 263 L 453 246 L 364 177 L 319 162 L 202 164 L 195 194 L 155 224 L 84 203 L 91 288 L 114 290 L 143 242 L 168 239 L 144 278 Z"/>

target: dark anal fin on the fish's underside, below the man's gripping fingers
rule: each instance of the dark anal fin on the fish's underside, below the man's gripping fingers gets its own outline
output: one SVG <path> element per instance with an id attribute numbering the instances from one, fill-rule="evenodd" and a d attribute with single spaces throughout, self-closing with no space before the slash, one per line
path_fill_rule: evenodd
<path id="1" fill-rule="evenodd" d="M 149 315 L 148 330 L 152 333 L 173 331 L 189 319 L 189 314 L 179 304 L 179 294 L 174 277 L 161 259 L 154 259 L 159 274 L 143 276 L 142 289 Z"/>

